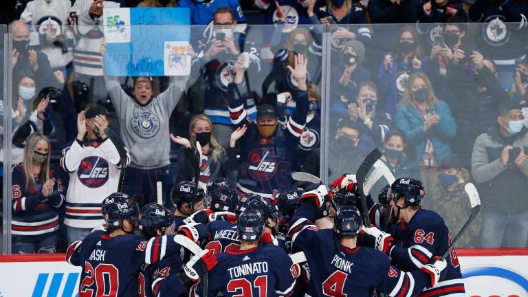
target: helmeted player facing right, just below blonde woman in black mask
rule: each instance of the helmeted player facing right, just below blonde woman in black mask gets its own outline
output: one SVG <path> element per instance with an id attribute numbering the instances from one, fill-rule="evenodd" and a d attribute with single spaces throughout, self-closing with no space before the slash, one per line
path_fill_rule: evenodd
<path id="1" fill-rule="evenodd" d="M 184 219 L 191 214 L 203 210 L 203 199 L 206 193 L 202 188 L 197 188 L 197 194 L 194 195 L 196 184 L 194 181 L 180 181 L 170 192 L 170 199 L 176 208 L 174 212 L 174 221 L 176 228 L 184 225 Z"/>

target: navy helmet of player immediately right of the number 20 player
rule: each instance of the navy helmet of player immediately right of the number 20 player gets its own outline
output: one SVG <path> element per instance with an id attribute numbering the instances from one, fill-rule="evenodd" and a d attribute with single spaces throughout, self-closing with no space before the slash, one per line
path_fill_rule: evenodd
<path id="1" fill-rule="evenodd" d="M 140 230 L 153 234 L 156 230 L 165 234 L 166 228 L 173 225 L 173 216 L 170 211 L 157 203 L 149 203 L 141 208 L 139 215 Z M 174 229 L 173 229 L 174 230 Z"/>

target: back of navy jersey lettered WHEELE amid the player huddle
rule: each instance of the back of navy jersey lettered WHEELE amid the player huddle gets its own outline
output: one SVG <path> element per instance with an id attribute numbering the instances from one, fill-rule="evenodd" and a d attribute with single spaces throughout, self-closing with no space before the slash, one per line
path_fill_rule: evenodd
<path id="1" fill-rule="evenodd" d="M 228 250 L 239 250 L 240 240 L 236 233 L 236 221 L 211 221 L 207 224 L 209 230 L 209 242 L 206 249 L 212 250 L 214 254 L 220 254 Z"/>

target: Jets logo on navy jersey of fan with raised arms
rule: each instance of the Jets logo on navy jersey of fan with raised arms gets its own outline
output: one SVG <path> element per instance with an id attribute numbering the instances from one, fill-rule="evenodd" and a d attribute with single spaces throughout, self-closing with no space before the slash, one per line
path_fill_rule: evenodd
<path id="1" fill-rule="evenodd" d="M 255 148 L 248 159 L 249 173 L 256 181 L 269 181 L 277 173 L 277 158 L 265 148 Z"/>

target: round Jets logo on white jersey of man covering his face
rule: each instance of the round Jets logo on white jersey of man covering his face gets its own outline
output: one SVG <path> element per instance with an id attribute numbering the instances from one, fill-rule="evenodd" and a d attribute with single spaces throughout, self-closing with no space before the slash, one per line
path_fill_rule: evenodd
<path id="1" fill-rule="evenodd" d="M 108 181 L 108 162 L 102 157 L 85 157 L 77 170 L 81 184 L 88 188 L 99 188 Z"/>

